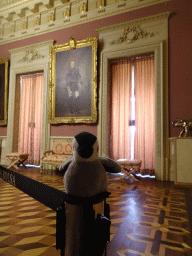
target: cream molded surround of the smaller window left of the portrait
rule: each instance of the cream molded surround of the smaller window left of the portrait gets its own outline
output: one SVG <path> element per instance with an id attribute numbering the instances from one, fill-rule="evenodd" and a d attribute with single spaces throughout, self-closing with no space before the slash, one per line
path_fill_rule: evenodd
<path id="1" fill-rule="evenodd" d="M 8 105 L 8 126 L 7 126 L 7 153 L 12 152 L 13 146 L 13 124 L 14 124 L 14 106 L 15 106 L 15 84 L 17 74 L 25 74 L 35 71 L 43 71 L 44 88 L 43 88 L 43 112 L 42 112 L 42 143 L 41 152 L 49 148 L 50 124 L 48 123 L 49 108 L 49 47 L 54 41 L 29 45 L 26 47 L 10 50 L 11 66 L 9 79 L 9 105 Z M 41 56 L 35 58 L 31 51 L 39 53 Z M 28 57 L 26 57 L 28 56 Z M 43 56 L 43 58 L 42 58 Z M 24 61 L 23 61 L 24 60 Z"/>

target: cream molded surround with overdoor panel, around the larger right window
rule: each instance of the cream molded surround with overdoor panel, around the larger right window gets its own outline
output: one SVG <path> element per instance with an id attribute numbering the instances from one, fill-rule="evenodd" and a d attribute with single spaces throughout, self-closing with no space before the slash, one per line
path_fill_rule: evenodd
<path id="1" fill-rule="evenodd" d="M 98 140 L 100 154 L 108 155 L 107 104 L 109 86 L 109 61 L 132 55 L 155 54 L 155 173 L 157 179 L 167 177 L 168 158 L 168 18 L 169 12 L 143 17 L 98 30 L 100 53 L 100 92 Z M 138 27 L 149 36 L 140 37 L 129 28 Z M 120 43 L 127 31 L 128 40 Z M 130 31 L 130 32 L 129 32 Z M 150 36 L 152 35 L 152 36 Z M 131 40 L 136 38 L 135 40 Z"/>

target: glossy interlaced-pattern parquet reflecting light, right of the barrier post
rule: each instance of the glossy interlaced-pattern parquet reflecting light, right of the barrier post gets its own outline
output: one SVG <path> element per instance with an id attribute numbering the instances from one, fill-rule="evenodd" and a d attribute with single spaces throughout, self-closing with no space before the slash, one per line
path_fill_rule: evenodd
<path id="1" fill-rule="evenodd" d="M 113 185 L 119 186 L 119 183 L 116 181 Z M 145 181 L 129 185 L 118 201 L 113 200 L 113 187 L 109 198 L 112 213 L 110 256 L 192 255 L 184 191 L 172 186 L 156 187 L 158 183 L 153 183 L 153 186 L 146 186 Z"/>

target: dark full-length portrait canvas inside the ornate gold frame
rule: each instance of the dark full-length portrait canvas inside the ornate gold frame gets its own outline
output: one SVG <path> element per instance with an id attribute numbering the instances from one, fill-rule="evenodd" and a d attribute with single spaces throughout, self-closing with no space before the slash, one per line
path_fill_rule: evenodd
<path id="1" fill-rule="evenodd" d="M 91 116 L 91 103 L 92 46 L 57 52 L 55 117 Z"/>

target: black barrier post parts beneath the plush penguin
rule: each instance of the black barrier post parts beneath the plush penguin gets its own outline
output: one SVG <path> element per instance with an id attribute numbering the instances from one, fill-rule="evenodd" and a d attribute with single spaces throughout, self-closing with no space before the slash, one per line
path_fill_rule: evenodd
<path id="1" fill-rule="evenodd" d="M 66 247 L 66 208 L 65 203 L 83 206 L 82 223 L 84 225 L 84 237 L 82 239 L 82 255 L 90 255 L 90 246 L 94 248 L 93 256 L 106 255 L 106 244 L 110 241 L 110 209 L 106 198 L 111 193 L 102 192 L 93 197 L 80 197 L 67 194 L 60 207 L 57 208 L 56 217 L 56 249 L 61 250 L 61 256 L 65 255 Z M 95 219 L 93 205 L 104 200 L 104 215 L 98 214 Z M 100 233 L 100 235 L 98 235 Z M 88 246 L 89 245 L 89 246 Z M 79 255 L 79 254 L 78 254 Z"/>

